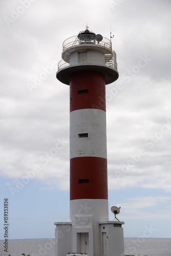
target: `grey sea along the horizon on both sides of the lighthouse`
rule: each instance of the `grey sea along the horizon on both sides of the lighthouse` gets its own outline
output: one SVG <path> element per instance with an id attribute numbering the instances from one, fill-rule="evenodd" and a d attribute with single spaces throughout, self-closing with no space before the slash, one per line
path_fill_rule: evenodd
<path id="1" fill-rule="evenodd" d="M 0 256 L 54 256 L 54 239 L 22 239 L 8 241 L 8 252 L 0 241 Z M 171 256 L 171 238 L 124 238 L 125 255 Z M 65 256 L 65 255 L 63 255 Z"/>

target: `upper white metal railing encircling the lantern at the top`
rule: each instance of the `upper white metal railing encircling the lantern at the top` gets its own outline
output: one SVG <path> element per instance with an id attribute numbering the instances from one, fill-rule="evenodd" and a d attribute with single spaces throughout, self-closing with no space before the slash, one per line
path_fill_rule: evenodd
<path id="1" fill-rule="evenodd" d="M 80 45 L 80 44 L 94 44 L 94 45 L 99 45 L 103 46 L 107 49 L 110 49 L 112 51 L 112 42 L 108 39 L 103 37 L 101 41 L 97 41 L 95 39 L 94 35 L 89 35 L 89 34 L 84 34 L 84 35 L 75 35 L 72 37 L 67 38 L 63 44 L 63 50 L 67 49 L 68 47 L 75 46 L 75 45 Z"/>

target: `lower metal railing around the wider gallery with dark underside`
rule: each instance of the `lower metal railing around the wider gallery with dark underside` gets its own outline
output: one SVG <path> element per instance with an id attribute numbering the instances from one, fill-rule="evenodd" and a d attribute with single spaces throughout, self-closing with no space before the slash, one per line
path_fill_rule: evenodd
<path id="1" fill-rule="evenodd" d="M 98 64 L 105 65 L 117 70 L 116 53 L 112 51 L 111 54 L 104 54 L 104 60 L 98 59 L 97 54 L 79 54 L 77 59 L 70 60 L 70 57 L 62 59 L 58 63 L 58 70 L 72 65 L 89 65 Z"/>

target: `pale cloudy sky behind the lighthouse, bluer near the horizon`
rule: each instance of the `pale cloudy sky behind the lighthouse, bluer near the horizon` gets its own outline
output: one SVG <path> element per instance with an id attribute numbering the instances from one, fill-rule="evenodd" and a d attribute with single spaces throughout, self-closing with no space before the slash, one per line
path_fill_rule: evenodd
<path id="1" fill-rule="evenodd" d="M 8 198 L 9 238 L 52 238 L 53 223 L 69 220 L 69 86 L 55 73 L 62 42 L 86 25 L 112 31 L 117 54 L 119 78 L 106 86 L 109 208 L 121 206 L 124 237 L 171 238 L 170 0 L 0 5 L 0 217 Z"/>

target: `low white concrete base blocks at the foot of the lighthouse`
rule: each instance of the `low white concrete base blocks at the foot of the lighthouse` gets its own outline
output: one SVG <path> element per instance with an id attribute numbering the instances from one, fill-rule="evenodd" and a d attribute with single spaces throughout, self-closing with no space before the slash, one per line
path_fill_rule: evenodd
<path id="1" fill-rule="evenodd" d="M 55 222 L 55 256 L 67 254 L 84 254 L 89 256 L 124 256 L 123 228 L 124 222 L 101 221 L 98 254 L 94 252 L 93 216 L 75 217 L 71 222 Z M 87 222 L 87 225 L 84 225 Z M 84 226 L 81 226 L 82 223 Z M 72 246 L 74 244 L 74 246 Z M 73 248 L 72 248 L 73 247 Z"/>

